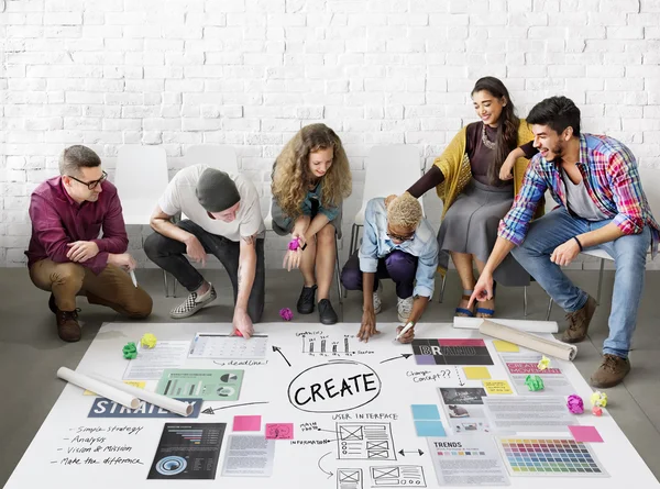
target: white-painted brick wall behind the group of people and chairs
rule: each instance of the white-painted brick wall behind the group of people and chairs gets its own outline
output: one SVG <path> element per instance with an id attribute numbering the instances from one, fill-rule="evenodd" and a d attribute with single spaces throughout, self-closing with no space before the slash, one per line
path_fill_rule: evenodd
<path id="1" fill-rule="evenodd" d="M 413 144 L 429 164 L 475 119 L 484 75 L 522 116 L 573 98 L 585 131 L 660 167 L 659 25 L 658 0 L 0 0 L 0 266 L 24 262 L 30 192 L 66 145 L 111 175 L 122 144 L 164 144 L 170 174 L 189 145 L 234 145 L 265 214 L 274 157 L 316 121 L 351 158 L 348 243 L 369 148 Z M 150 230 L 129 231 L 144 263 Z M 276 267 L 286 240 L 268 238 Z"/>

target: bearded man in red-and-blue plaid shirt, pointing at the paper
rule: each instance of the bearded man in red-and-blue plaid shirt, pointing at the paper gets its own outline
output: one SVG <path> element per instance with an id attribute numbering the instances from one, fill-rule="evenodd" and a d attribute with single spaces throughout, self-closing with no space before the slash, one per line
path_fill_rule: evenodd
<path id="1" fill-rule="evenodd" d="M 512 210 L 499 223 L 497 242 L 471 298 L 493 297 L 493 271 L 510 252 L 568 313 L 562 341 L 584 340 L 596 301 L 561 270 L 583 249 L 603 249 L 616 275 L 609 336 L 594 387 L 619 384 L 630 371 L 628 351 L 644 289 L 646 255 L 654 256 L 660 229 L 641 188 L 630 149 L 606 136 L 580 133 L 580 109 L 565 97 L 538 103 L 527 118 L 535 134 L 534 156 Z M 531 222 L 546 190 L 559 203 Z"/>

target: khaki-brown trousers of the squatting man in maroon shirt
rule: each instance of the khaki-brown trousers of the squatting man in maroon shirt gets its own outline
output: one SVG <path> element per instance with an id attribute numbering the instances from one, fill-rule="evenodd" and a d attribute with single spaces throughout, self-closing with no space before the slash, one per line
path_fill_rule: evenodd
<path id="1" fill-rule="evenodd" d="M 46 258 L 30 267 L 30 278 L 40 289 L 53 292 L 61 311 L 75 310 L 76 296 L 86 296 L 90 304 L 107 305 L 128 318 L 146 318 L 152 311 L 150 294 L 133 286 L 131 276 L 114 265 L 95 275 L 82 265 Z"/>

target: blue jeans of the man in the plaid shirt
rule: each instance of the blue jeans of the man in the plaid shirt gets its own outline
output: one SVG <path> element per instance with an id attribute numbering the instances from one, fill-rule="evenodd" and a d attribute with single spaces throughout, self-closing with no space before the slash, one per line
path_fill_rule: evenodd
<path id="1" fill-rule="evenodd" d="M 559 265 L 550 262 L 556 247 L 579 234 L 607 225 L 612 220 L 586 221 L 558 208 L 529 225 L 525 242 L 514 248 L 514 257 L 539 282 L 554 302 L 566 312 L 584 307 L 588 294 L 564 275 Z M 614 258 L 616 274 L 609 336 L 603 344 L 603 353 L 627 358 L 630 338 L 637 325 L 637 309 L 644 289 L 646 255 L 651 244 L 651 232 L 645 226 L 640 234 L 628 234 L 615 241 L 585 249 L 603 249 Z"/>

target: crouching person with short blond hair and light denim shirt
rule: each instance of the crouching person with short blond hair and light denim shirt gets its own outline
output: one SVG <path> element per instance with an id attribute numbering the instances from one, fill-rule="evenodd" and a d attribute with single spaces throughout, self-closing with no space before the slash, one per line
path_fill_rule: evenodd
<path id="1" fill-rule="evenodd" d="M 437 268 L 438 242 L 419 201 L 408 192 L 370 200 L 364 213 L 362 245 L 341 273 L 346 290 L 363 291 L 358 337 L 366 342 L 380 333 L 375 318 L 382 307 L 378 279 L 394 280 L 398 319 L 415 324 L 433 296 Z M 409 343 L 413 337 L 414 329 L 410 329 L 399 341 Z"/>

